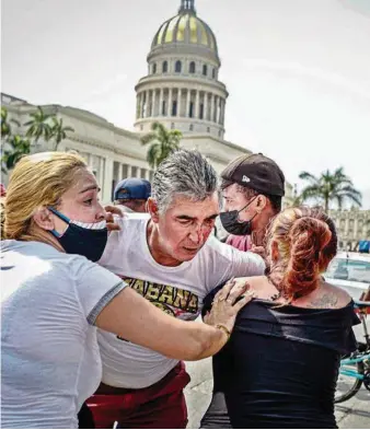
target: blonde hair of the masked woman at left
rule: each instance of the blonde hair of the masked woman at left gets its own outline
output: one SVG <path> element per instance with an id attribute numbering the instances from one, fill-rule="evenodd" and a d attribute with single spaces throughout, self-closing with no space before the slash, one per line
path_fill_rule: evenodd
<path id="1" fill-rule="evenodd" d="M 37 240 L 33 214 L 60 202 L 85 161 L 72 152 L 42 152 L 22 158 L 15 165 L 1 201 L 1 239 Z"/>

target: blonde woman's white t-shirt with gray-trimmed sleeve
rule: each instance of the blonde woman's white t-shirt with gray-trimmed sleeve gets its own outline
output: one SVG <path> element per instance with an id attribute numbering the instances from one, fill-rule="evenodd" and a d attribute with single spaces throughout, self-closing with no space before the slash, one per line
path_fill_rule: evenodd
<path id="1" fill-rule="evenodd" d="M 102 376 L 94 323 L 124 288 L 80 255 L 1 242 L 2 428 L 78 428 Z"/>

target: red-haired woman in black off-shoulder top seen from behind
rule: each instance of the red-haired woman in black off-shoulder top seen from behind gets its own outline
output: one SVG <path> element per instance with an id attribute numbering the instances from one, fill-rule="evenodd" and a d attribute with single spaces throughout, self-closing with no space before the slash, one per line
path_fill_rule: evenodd
<path id="1" fill-rule="evenodd" d="M 238 280 L 256 299 L 213 357 L 201 428 L 336 428 L 339 360 L 356 349 L 357 317 L 350 297 L 321 276 L 336 254 L 334 223 L 319 209 L 287 209 L 266 239 L 268 275 Z"/>

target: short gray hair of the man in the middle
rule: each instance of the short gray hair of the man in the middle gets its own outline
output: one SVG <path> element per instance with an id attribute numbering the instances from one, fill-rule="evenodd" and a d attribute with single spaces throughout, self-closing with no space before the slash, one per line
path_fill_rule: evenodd
<path id="1" fill-rule="evenodd" d="M 203 201 L 216 191 L 217 173 L 208 160 L 196 150 L 180 149 L 173 152 L 159 165 L 152 182 L 152 197 L 162 213 L 176 195 Z"/>

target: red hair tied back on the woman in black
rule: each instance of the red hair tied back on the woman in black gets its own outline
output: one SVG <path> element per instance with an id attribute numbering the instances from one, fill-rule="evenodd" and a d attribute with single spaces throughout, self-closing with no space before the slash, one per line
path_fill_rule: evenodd
<path id="1" fill-rule="evenodd" d="M 266 236 L 270 272 L 280 275 L 274 282 L 279 291 L 292 301 L 315 290 L 336 254 L 337 235 L 331 218 L 321 208 L 289 208 L 273 220 Z M 273 242 L 279 253 L 276 263 L 270 255 Z"/>

